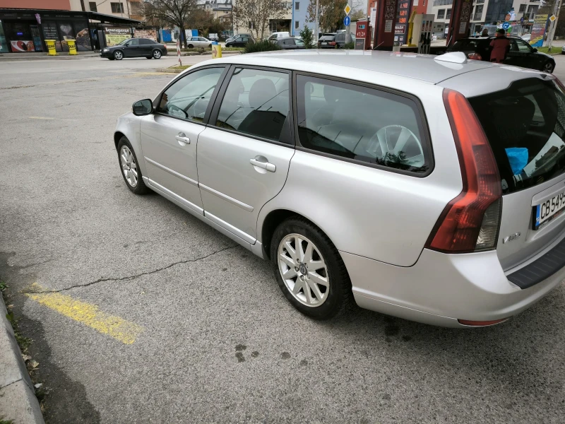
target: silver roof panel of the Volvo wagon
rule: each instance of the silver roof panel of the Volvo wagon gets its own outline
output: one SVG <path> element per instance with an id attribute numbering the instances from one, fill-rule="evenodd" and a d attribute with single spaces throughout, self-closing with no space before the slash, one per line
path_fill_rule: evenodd
<path id="1" fill-rule="evenodd" d="M 355 73 L 373 71 L 388 73 L 427 83 L 436 84 L 461 73 L 498 66 L 487 61 L 469 60 L 465 64 L 454 64 L 434 60 L 429 54 L 408 54 L 401 52 L 377 52 L 371 50 L 300 50 L 290 52 L 261 52 L 238 54 L 214 63 L 249 64 L 255 66 L 276 66 L 280 69 L 311 71 L 313 65 L 323 69 L 323 74 L 355 79 Z M 375 80 L 376 82 L 378 80 Z"/>

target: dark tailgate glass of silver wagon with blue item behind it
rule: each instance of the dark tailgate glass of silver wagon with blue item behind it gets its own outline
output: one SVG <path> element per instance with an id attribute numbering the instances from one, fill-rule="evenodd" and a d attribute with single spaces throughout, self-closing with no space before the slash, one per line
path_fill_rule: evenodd
<path id="1" fill-rule="evenodd" d="M 553 81 L 528 78 L 469 99 L 499 167 L 504 194 L 565 172 L 565 93 Z"/>

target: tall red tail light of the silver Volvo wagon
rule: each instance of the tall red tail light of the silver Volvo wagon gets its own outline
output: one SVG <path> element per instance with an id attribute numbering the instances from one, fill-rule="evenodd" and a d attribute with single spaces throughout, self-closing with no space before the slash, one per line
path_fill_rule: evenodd
<path id="1" fill-rule="evenodd" d="M 496 249 L 502 209 L 496 160 L 465 96 L 446 89 L 444 104 L 459 156 L 463 190 L 444 208 L 426 247 L 445 253 Z"/>

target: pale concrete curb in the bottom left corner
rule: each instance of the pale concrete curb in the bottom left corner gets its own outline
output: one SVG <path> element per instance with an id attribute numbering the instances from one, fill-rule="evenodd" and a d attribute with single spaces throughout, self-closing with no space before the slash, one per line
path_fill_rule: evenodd
<path id="1" fill-rule="evenodd" d="M 0 296 L 1 297 L 1 296 Z M 0 419 L 17 424 L 44 424 L 35 389 L 0 299 Z"/>

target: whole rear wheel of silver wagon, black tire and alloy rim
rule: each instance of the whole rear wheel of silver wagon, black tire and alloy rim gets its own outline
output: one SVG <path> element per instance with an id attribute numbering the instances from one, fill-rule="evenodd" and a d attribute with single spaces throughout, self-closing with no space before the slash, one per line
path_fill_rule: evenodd
<path id="1" fill-rule="evenodd" d="M 287 246 L 291 249 L 293 246 L 297 247 L 298 238 L 302 240 L 304 255 L 302 259 L 297 255 L 297 261 L 292 259 Z M 307 258 L 308 249 L 311 249 L 311 260 Z M 283 256 L 285 259 L 281 259 Z M 338 250 L 328 236 L 309 220 L 297 216 L 278 225 L 270 243 L 270 260 L 280 290 L 302 314 L 314 319 L 331 319 L 343 314 L 352 305 L 351 281 Z M 319 268 L 314 269 L 314 266 Z M 289 278 L 283 278 L 283 273 L 288 274 Z M 324 279 L 327 285 L 318 283 Z M 317 295 L 314 286 L 317 288 Z M 294 288 L 297 288 L 296 292 Z M 307 288 L 308 294 L 304 288 Z"/>

